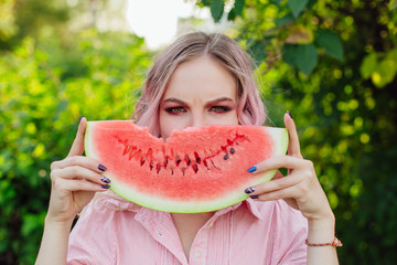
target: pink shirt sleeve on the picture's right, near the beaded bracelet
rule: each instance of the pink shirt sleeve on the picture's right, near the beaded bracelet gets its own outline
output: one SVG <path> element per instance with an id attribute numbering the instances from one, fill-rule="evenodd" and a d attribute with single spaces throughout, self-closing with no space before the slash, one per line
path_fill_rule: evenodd
<path id="1" fill-rule="evenodd" d="M 307 264 L 308 221 L 300 211 L 290 208 L 283 200 L 275 204 L 275 234 L 276 263 L 283 265 Z"/>

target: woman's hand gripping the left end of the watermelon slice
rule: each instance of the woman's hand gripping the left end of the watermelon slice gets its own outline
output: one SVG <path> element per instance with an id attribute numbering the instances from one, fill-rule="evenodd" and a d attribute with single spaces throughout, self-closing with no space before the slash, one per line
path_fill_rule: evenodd
<path id="1" fill-rule="evenodd" d="M 76 138 L 67 157 L 51 165 L 51 198 L 47 221 L 72 223 L 76 214 L 98 191 L 106 191 L 110 182 L 101 173 L 106 167 L 83 157 L 87 119 L 82 117 Z"/>

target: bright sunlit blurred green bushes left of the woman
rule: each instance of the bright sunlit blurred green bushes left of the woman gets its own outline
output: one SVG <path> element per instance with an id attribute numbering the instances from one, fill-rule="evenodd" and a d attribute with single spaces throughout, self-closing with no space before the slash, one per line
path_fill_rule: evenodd
<path id="1" fill-rule="evenodd" d="M 63 159 L 82 114 L 128 119 L 150 54 L 142 39 L 81 32 L 25 39 L 0 59 L 0 263 L 33 264 L 50 191 L 50 165 Z"/>

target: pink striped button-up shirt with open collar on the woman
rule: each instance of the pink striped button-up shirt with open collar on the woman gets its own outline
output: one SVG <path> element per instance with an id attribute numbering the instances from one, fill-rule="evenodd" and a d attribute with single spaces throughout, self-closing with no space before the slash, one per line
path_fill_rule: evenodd
<path id="1" fill-rule="evenodd" d="M 100 198 L 73 229 L 67 264 L 307 264 L 307 220 L 285 201 L 248 199 L 215 212 L 187 261 L 170 213 Z"/>

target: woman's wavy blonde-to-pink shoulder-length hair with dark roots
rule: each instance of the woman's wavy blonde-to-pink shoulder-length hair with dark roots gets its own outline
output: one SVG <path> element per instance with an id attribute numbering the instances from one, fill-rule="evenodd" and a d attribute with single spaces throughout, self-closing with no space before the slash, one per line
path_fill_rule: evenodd
<path id="1" fill-rule="evenodd" d="M 237 118 L 240 125 L 262 125 L 266 109 L 253 77 L 253 60 L 233 39 L 221 34 L 195 32 L 178 39 L 154 61 L 132 118 L 160 137 L 159 106 L 168 82 L 179 64 L 200 56 L 219 62 L 238 82 Z"/>

